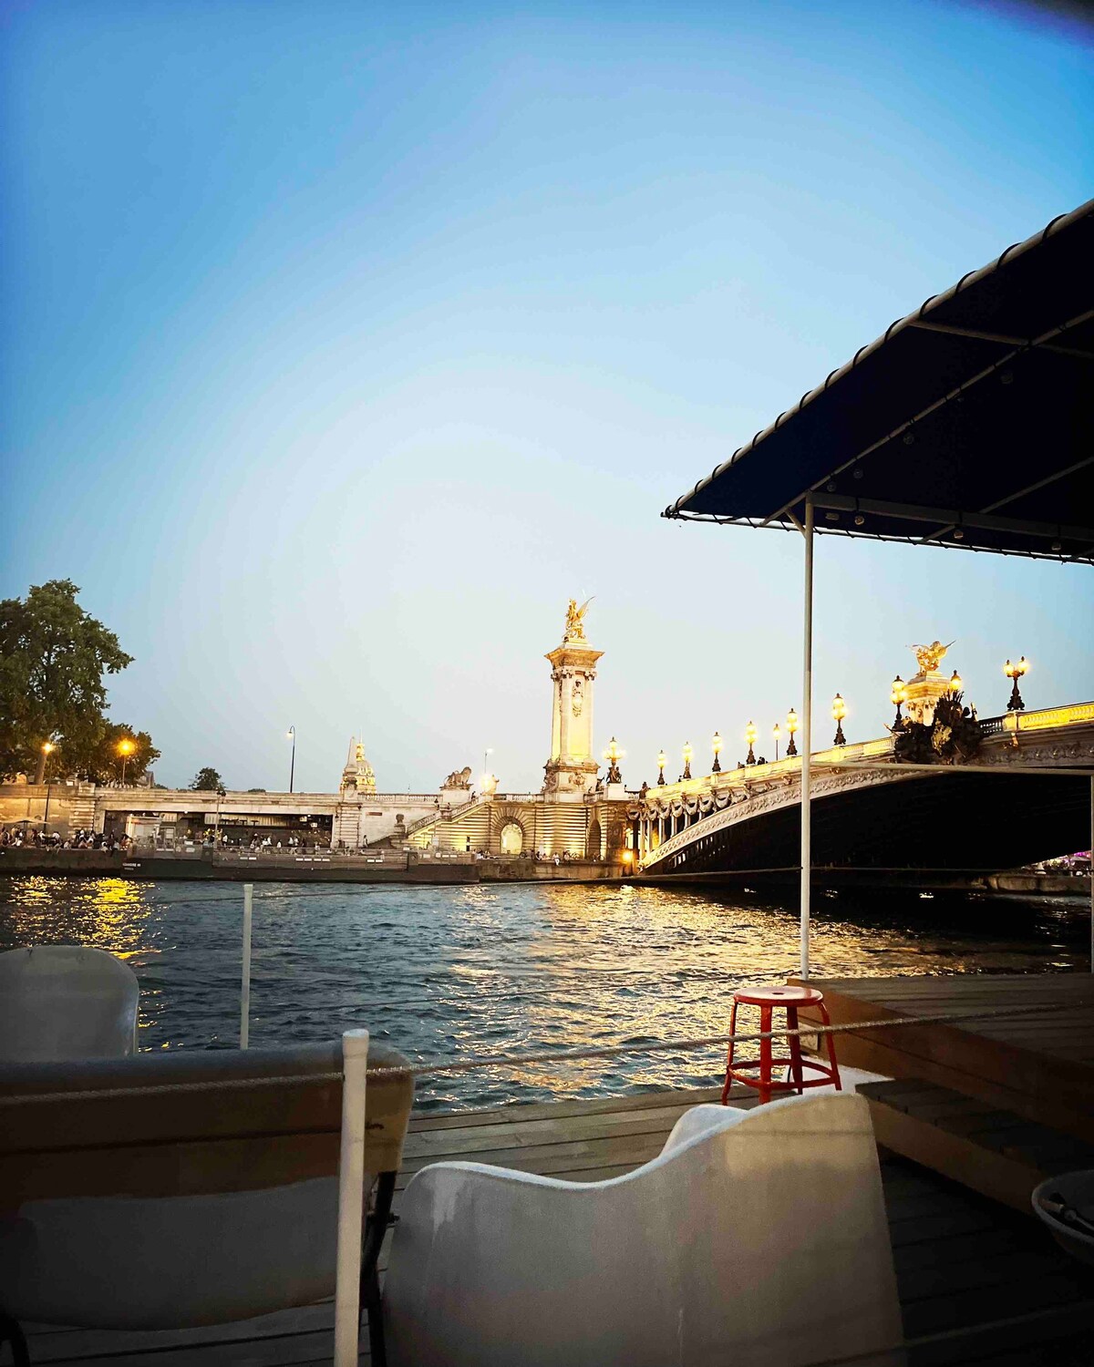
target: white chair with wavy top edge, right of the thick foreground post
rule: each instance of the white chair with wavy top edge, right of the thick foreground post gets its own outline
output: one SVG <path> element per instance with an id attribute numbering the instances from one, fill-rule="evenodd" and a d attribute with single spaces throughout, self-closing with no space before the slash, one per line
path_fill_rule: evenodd
<path id="1" fill-rule="evenodd" d="M 697 1106 L 603 1182 L 425 1167 L 384 1319 L 392 1367 L 903 1363 L 867 1102 Z"/>

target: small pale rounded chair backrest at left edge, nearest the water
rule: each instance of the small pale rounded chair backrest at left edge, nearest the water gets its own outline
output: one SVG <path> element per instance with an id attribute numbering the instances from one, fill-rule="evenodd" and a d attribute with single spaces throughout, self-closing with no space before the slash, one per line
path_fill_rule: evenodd
<path id="1" fill-rule="evenodd" d="M 122 1058 L 137 1044 L 137 975 L 101 949 L 0 954 L 0 1061 Z"/>

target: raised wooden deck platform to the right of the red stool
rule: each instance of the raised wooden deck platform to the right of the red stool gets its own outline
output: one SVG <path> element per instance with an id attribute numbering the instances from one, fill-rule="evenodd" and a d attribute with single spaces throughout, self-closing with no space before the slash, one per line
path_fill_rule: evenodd
<path id="1" fill-rule="evenodd" d="M 840 1061 L 886 1077 L 948 1087 L 1094 1144 L 1090 973 L 840 977 L 811 986 L 825 994 L 833 1024 L 944 1012 L 991 1013 L 960 1025 L 903 1025 L 840 1035 Z M 1002 1014 L 1015 1007 L 1038 1010 Z"/>

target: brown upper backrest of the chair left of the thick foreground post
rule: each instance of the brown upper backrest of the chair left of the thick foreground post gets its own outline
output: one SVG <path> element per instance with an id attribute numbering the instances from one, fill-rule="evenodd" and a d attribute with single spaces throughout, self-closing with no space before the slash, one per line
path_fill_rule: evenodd
<path id="1" fill-rule="evenodd" d="M 382 1046 L 368 1064 L 409 1066 Z M 193 1196 L 334 1176 L 341 1074 L 341 1042 L 0 1064 L 4 1200 Z M 410 1073 L 369 1079 L 366 1172 L 398 1172 L 413 1094 Z"/>

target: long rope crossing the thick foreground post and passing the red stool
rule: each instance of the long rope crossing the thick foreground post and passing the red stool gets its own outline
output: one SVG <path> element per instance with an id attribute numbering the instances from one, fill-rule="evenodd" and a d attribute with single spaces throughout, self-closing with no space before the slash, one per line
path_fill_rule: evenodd
<path id="1" fill-rule="evenodd" d="M 749 1044 L 769 1039 L 793 1039 L 803 1035 L 842 1035 L 851 1031 L 867 1029 L 896 1029 L 904 1025 L 942 1025 L 974 1020 L 1001 1020 L 1023 1016 L 1048 1014 L 1060 1010 L 1089 1010 L 1094 1007 L 1094 999 L 1083 1002 L 1039 1002 L 1032 1006 L 1004 1006 L 991 1010 L 972 1012 L 937 1012 L 931 1016 L 889 1016 L 878 1020 L 846 1021 L 838 1025 L 800 1025 L 797 1029 L 770 1029 L 734 1035 L 703 1035 L 692 1039 L 661 1040 L 651 1044 L 604 1044 L 596 1048 L 562 1048 L 544 1050 L 536 1054 L 491 1054 L 485 1058 L 472 1058 L 459 1062 L 431 1062 L 412 1064 L 409 1068 L 371 1068 L 368 1081 L 383 1081 L 384 1079 L 403 1077 L 436 1077 L 449 1073 L 470 1073 L 480 1068 L 531 1068 L 536 1064 L 578 1062 L 587 1058 L 615 1058 L 621 1055 L 659 1054 L 670 1051 L 686 1051 L 693 1048 L 712 1048 L 715 1044 Z M 800 1007 L 807 1009 L 807 1007 Z M 16 1095 L 0 1096 L 0 1106 L 23 1106 L 33 1102 L 60 1102 L 60 1100 L 104 1100 L 109 1096 L 157 1096 L 172 1092 L 215 1092 L 215 1091 L 246 1091 L 263 1087 L 310 1087 L 315 1083 L 341 1083 L 342 1073 L 293 1073 L 276 1077 L 224 1077 L 208 1079 L 198 1083 L 153 1083 L 148 1087 L 104 1087 L 88 1091 L 67 1092 L 19 1092 Z"/>

